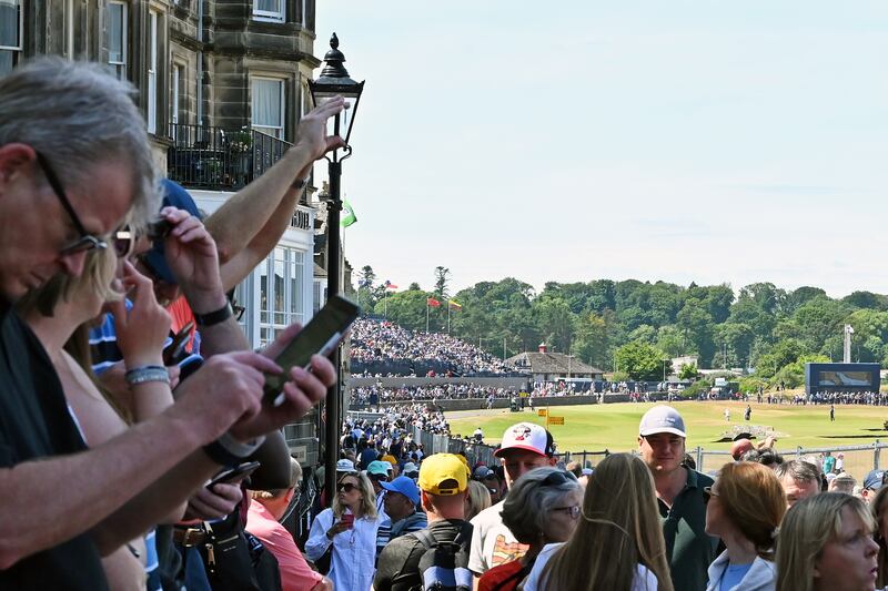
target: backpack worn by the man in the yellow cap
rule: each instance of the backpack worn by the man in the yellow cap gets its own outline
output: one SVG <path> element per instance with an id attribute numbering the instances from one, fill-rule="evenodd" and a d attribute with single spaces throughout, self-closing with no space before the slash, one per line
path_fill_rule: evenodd
<path id="1" fill-rule="evenodd" d="M 463 523 L 463 529 L 452 542 L 438 542 L 426 528 L 407 533 L 425 548 L 420 557 L 422 582 L 412 591 L 471 591 L 472 571 L 468 570 L 472 523 Z"/>

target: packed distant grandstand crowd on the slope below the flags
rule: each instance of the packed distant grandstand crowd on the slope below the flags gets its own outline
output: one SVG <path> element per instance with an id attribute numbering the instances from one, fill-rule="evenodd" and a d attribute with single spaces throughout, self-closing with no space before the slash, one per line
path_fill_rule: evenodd
<path id="1" fill-rule="evenodd" d="M 456 375 L 504 374 L 502 360 L 456 337 L 422 333 L 371 318 L 360 318 L 352 327 L 351 359 L 359 363 L 442 363 Z"/>

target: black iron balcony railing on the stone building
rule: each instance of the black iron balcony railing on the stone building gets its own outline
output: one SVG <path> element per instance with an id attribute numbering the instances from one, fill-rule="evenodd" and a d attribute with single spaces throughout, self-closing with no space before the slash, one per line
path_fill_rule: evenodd
<path id="1" fill-rule="evenodd" d="M 236 191 L 262 176 L 292 145 L 250 128 L 170 124 L 170 179 L 186 187 Z"/>

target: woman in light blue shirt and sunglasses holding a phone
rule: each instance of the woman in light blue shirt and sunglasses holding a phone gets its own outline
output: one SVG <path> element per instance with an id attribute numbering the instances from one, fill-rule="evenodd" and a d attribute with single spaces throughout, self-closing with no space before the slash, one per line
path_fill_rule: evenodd
<path id="1" fill-rule="evenodd" d="M 312 523 L 305 554 L 319 562 L 327 551 L 334 589 L 370 589 L 376 572 L 376 495 L 366 476 L 345 472 L 336 482 L 333 507 Z"/>

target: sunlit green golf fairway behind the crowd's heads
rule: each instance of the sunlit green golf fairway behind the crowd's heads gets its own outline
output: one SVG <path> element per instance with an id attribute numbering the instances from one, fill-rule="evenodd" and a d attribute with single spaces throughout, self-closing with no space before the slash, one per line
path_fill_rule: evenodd
<path id="1" fill-rule="evenodd" d="M 537 405 L 539 403 L 537 401 Z M 563 416 L 565 425 L 552 425 L 549 430 L 564 451 L 603 450 L 628 451 L 637 447 L 638 421 L 653 404 L 613 404 L 587 406 L 554 406 L 553 416 Z M 688 450 L 700 446 L 707 450 L 727 450 L 730 442 L 719 439 L 731 426 L 747 425 L 743 420 L 746 403 L 676 403 L 687 428 Z M 888 407 L 837 406 L 836 421 L 829 421 L 828 406 L 758 405 L 753 403 L 753 418 L 748 425 L 773 428 L 783 434 L 780 450 L 824 448 L 848 445 L 867 445 L 876 439 L 888 441 L 882 422 L 888 419 Z M 541 407 L 537 407 L 541 408 Z M 543 407 L 544 408 L 544 407 Z M 730 422 L 724 417 L 730 409 Z M 508 410 L 473 410 L 448 412 L 454 434 L 471 435 L 481 426 L 485 442 L 498 442 L 506 427 L 521 420 L 545 425 L 545 417 Z M 888 454 L 886 454 L 888 455 Z"/>

